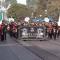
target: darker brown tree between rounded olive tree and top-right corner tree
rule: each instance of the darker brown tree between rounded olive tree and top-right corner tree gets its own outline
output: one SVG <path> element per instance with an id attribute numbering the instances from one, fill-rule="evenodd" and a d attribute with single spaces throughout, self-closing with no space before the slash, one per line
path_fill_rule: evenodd
<path id="1" fill-rule="evenodd" d="M 45 14 L 45 9 L 46 9 L 46 0 L 38 0 L 38 8 L 36 10 L 36 16 L 43 15 Z"/>

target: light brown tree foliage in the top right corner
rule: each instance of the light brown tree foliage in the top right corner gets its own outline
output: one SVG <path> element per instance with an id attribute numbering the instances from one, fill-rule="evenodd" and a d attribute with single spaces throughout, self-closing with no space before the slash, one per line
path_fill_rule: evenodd
<path id="1" fill-rule="evenodd" d="M 57 20 L 60 13 L 60 0 L 52 0 L 48 4 L 48 15 L 52 16 L 54 20 Z"/>

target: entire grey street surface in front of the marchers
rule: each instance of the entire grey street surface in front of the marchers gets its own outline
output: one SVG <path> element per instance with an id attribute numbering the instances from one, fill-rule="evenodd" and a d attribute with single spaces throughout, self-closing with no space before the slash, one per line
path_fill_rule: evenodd
<path id="1" fill-rule="evenodd" d="M 48 41 L 0 41 L 0 60 L 60 60 L 60 38 Z"/>

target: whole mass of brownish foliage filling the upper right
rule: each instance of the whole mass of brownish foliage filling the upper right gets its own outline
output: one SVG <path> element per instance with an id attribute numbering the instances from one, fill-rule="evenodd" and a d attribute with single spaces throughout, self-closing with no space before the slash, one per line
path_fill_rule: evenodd
<path id="1" fill-rule="evenodd" d="M 58 16 L 60 12 L 60 0 L 38 0 L 38 8 L 36 16 L 45 16 L 45 9 L 47 9 L 48 16 Z"/>

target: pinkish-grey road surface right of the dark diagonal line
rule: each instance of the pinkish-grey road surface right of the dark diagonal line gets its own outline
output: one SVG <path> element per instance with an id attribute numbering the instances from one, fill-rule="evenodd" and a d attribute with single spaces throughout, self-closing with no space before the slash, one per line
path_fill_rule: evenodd
<path id="1" fill-rule="evenodd" d="M 23 44 L 31 45 L 28 49 L 44 60 L 60 60 L 60 38 L 48 41 L 23 41 Z"/>

